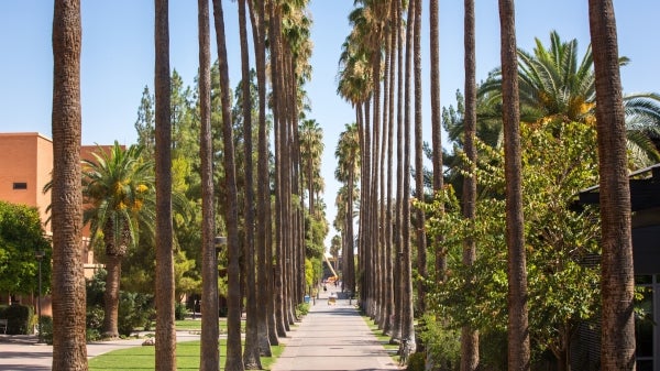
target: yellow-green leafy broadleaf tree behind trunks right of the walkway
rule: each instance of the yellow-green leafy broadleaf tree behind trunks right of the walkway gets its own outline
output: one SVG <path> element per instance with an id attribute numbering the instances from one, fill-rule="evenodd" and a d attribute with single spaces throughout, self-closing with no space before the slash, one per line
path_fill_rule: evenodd
<path id="1" fill-rule="evenodd" d="M 593 209 L 572 206 L 581 189 L 597 184 L 595 140 L 587 123 L 521 124 L 528 307 L 536 356 L 551 350 L 559 357 L 574 326 L 598 312 L 598 268 L 584 264 L 598 254 L 598 218 Z M 449 329 L 470 325 L 498 334 L 507 324 L 504 154 L 482 142 L 477 145 L 476 220 L 462 217 L 451 187 L 426 206 L 429 233 L 443 238 L 441 248 L 449 262 L 448 280 L 435 285 L 429 299 Z M 441 206 L 442 215 L 437 212 Z M 468 237 L 475 239 L 479 252 L 472 266 L 462 264 Z"/>

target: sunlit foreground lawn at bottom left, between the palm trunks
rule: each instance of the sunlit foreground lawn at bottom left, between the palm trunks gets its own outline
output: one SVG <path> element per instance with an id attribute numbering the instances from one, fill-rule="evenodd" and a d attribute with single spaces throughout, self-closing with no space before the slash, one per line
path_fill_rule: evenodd
<path id="1" fill-rule="evenodd" d="M 220 368 L 224 367 L 227 341 L 220 340 Z M 177 370 L 199 370 L 199 341 L 177 342 L 176 368 Z M 273 357 L 262 357 L 262 367 L 270 370 L 277 357 L 284 351 L 283 346 L 271 347 Z M 110 370 L 154 370 L 155 347 L 134 347 L 114 350 L 89 360 L 90 371 Z"/>

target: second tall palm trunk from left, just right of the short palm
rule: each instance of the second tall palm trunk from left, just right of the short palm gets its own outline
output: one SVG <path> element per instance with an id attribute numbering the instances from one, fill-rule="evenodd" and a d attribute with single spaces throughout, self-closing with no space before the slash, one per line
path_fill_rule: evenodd
<path id="1" fill-rule="evenodd" d="M 168 1 L 155 3 L 156 370 L 176 370 Z"/>

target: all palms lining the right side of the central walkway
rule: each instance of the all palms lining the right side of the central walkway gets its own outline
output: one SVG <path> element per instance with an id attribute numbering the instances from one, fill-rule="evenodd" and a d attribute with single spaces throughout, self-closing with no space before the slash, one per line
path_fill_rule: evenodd
<path id="1" fill-rule="evenodd" d="M 508 369 L 528 370 L 530 367 L 519 124 L 521 120 L 560 120 L 588 122 L 597 128 L 603 236 L 602 369 L 632 370 L 632 313 L 626 309 L 632 306 L 634 286 L 627 149 L 632 149 L 631 160 L 636 166 L 658 161 L 658 149 L 653 145 L 658 138 L 656 122 L 660 117 L 658 97 L 623 97 L 618 68 L 626 59 L 620 58 L 617 52 L 614 11 L 612 1 L 607 0 L 590 1 L 592 46 L 580 63 L 575 42 L 562 43 L 557 33 L 551 34 L 548 50 L 537 42 L 534 55 L 518 51 L 514 1 L 501 0 L 502 68 L 477 89 L 474 1 L 465 0 L 464 3 L 465 106 L 462 121 L 457 123 L 450 135 L 461 142 L 466 159 L 463 163 L 468 165 L 452 172 L 463 174 L 462 212 L 466 220 L 474 220 L 477 197 L 475 139 L 479 135 L 493 145 L 503 144 L 508 249 Z M 447 250 L 442 236 L 427 242 L 424 209 L 410 209 L 410 195 L 424 200 L 426 186 L 421 138 L 421 1 L 361 0 L 355 6 L 349 17 L 353 29 L 343 44 L 338 83 L 338 94 L 355 109 L 355 123 L 346 124 L 337 146 L 339 166 L 336 177 L 343 187 L 337 197 L 339 220 L 334 225 L 341 232 L 344 282 L 349 290 L 360 292 L 361 306 L 389 334 L 393 342 L 402 343 L 399 351 L 411 352 L 416 343 L 414 307 L 422 314 L 427 306 L 425 295 L 428 287 L 425 285 L 441 283 L 447 275 Z M 429 9 L 431 186 L 435 192 L 440 192 L 444 187 L 444 170 L 437 81 L 438 2 L 431 0 Z M 626 113 L 632 119 L 628 128 Z M 498 129 L 492 129 L 494 121 Z M 477 132 L 480 128 L 483 129 L 482 134 Z M 393 153 L 395 130 L 396 155 Z M 484 137 L 487 133 L 495 133 L 495 138 Z M 410 148 L 413 139 L 415 154 Z M 415 171 L 410 166 L 413 155 Z M 393 174 L 394 161 L 396 174 Z M 415 177 L 414 190 L 410 175 Z M 355 193 L 358 183 L 359 197 Z M 360 220 L 355 247 L 352 229 L 356 199 Z M 415 236 L 411 236 L 411 219 Z M 413 241 L 417 248 L 415 254 Z M 427 263 L 427 243 L 433 247 L 430 250 L 435 251 L 432 264 Z M 359 259 L 358 269 L 353 270 L 355 248 Z M 474 238 L 465 238 L 462 263 L 465 266 L 473 264 L 476 253 Z M 414 255 L 417 257 L 419 276 L 415 306 Z M 435 272 L 427 272 L 427 266 L 433 266 Z M 461 331 L 461 370 L 475 370 L 479 353 L 479 332 L 464 326 Z"/>

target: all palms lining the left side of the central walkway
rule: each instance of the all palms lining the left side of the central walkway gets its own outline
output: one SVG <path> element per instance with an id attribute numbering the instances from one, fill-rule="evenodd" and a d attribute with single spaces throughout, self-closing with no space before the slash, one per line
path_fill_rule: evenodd
<path id="1" fill-rule="evenodd" d="M 244 168 L 237 168 L 237 132 L 230 106 L 230 88 L 224 35 L 222 1 L 212 1 L 213 25 L 216 30 L 220 86 L 211 90 L 210 78 L 210 9 L 209 2 L 200 0 L 199 9 L 199 102 L 200 102 L 200 173 L 201 173 L 201 263 L 202 263 L 202 313 L 218 313 L 218 221 L 222 220 L 227 236 L 228 255 L 228 341 L 227 370 L 260 369 L 260 357 L 270 354 L 271 345 L 286 336 L 296 318 L 295 306 L 305 296 L 305 259 L 307 258 L 304 200 L 307 190 L 309 215 L 322 217 L 318 207 L 323 184 L 319 182 L 321 133 L 314 120 L 305 120 L 302 86 L 310 77 L 308 59 L 311 53 L 309 42 L 310 18 L 306 12 L 306 1 L 239 1 L 239 26 L 241 35 L 242 64 L 242 149 Z M 251 25 L 252 43 L 248 41 L 248 26 Z M 78 255 L 82 220 L 81 167 L 79 161 L 80 100 L 79 100 L 79 52 L 80 52 L 80 2 L 58 0 L 55 2 L 53 23 L 53 52 L 55 55 L 55 88 L 53 105 L 53 141 L 55 166 L 53 174 L 53 228 L 54 270 L 54 370 L 85 370 L 87 357 L 85 347 L 85 280 Z M 169 75 L 169 31 L 168 1 L 155 2 L 155 145 L 154 193 L 144 187 L 151 179 L 138 179 L 123 184 L 117 192 L 125 197 L 116 205 L 105 205 L 105 218 L 96 216 L 96 229 L 103 230 L 103 239 L 109 252 L 109 269 L 112 277 L 119 277 L 122 252 L 138 238 L 131 236 L 134 229 L 127 223 L 135 222 L 130 212 L 146 209 L 145 203 L 153 203 L 155 211 L 155 296 L 156 296 L 156 369 L 176 369 L 176 332 L 174 328 L 174 231 L 173 231 L 173 112 L 172 80 Z M 267 41 L 267 42 L 266 42 Z M 254 47 L 254 63 L 249 61 L 249 44 Z M 250 66 L 256 70 L 256 99 L 250 91 Z M 270 81 L 270 86 L 267 86 Z M 221 138 L 220 148 L 212 143 L 212 95 L 220 98 Z M 254 102 L 254 103 L 253 103 Z M 255 107 L 253 107 L 254 105 Z M 268 105 L 268 106 L 267 106 Z M 272 111 L 275 142 L 268 143 L 270 121 L 266 109 Z M 252 114 L 256 112 L 256 118 Z M 299 122 L 300 119 L 302 122 Z M 256 129 L 252 128 L 252 123 Z M 252 133 L 256 130 L 256 145 L 253 149 Z M 302 131 L 302 133 L 300 133 Z M 78 149 L 78 150 L 77 150 Z M 274 172 L 268 161 L 274 152 Z M 116 145 L 113 151 L 120 151 Z M 123 159 L 135 159 L 131 146 Z M 252 164 L 256 152 L 256 166 Z M 220 165 L 215 161 L 222 159 Z M 96 162 L 86 164 L 87 201 L 103 199 L 95 195 L 95 166 L 111 161 L 120 161 L 122 154 L 99 156 Z M 128 161 L 128 160 L 127 160 Z M 129 168 L 147 167 L 140 163 Z M 213 166 L 223 172 L 222 193 L 217 192 L 213 182 Z M 106 172 L 107 173 L 107 172 Z M 244 205 L 239 205 L 239 174 L 243 175 Z M 253 183 L 254 182 L 254 183 Z M 120 182 L 121 183 L 121 182 Z M 256 192 L 254 192 L 256 190 Z M 218 194 L 223 195 L 217 199 Z M 151 195 L 152 198 L 146 197 Z M 274 203 L 271 200 L 274 195 Z M 96 205 L 96 210 L 101 208 Z M 219 207 L 221 206 L 221 207 Z M 220 218 L 216 210 L 224 215 Z M 86 219 L 87 220 L 87 219 Z M 320 237 L 322 239 L 322 237 Z M 241 273 L 240 260 L 245 263 Z M 245 281 L 242 281 L 242 277 Z M 112 279 L 114 280 L 114 279 Z M 117 281 L 118 283 L 119 281 Z M 246 284 L 248 287 L 242 287 Z M 114 295 L 117 290 L 108 291 Z M 243 294 L 244 293 L 244 294 Z M 245 295 L 246 335 L 241 341 L 241 308 Z M 107 302 L 113 302 L 107 297 Z M 110 312 L 113 312 L 110 310 Z M 116 316 L 107 320 L 116 321 Z M 112 329 L 109 324 L 107 328 Z M 218 317 L 202 315 L 201 370 L 219 369 Z M 112 332 L 112 331 L 110 331 Z"/>

